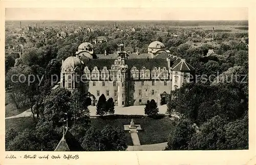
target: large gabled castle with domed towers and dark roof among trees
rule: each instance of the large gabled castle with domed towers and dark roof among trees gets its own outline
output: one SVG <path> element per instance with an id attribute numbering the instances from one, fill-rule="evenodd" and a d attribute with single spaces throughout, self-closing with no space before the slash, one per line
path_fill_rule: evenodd
<path id="1" fill-rule="evenodd" d="M 113 98 L 116 106 L 143 105 L 151 99 L 165 104 L 167 93 L 193 81 L 195 68 L 163 48 L 163 43 L 154 41 L 148 54 L 128 55 L 121 43 L 117 53 L 93 58 L 92 44 L 84 42 L 76 56 L 62 61 L 60 87 L 87 93 L 92 105 L 102 94 Z"/>

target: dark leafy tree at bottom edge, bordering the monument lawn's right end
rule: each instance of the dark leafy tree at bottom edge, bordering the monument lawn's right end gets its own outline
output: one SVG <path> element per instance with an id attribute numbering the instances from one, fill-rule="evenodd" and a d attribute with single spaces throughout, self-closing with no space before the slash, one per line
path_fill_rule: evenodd
<path id="1" fill-rule="evenodd" d="M 165 150 L 187 150 L 192 135 L 195 133 L 193 123 L 189 120 L 179 120 L 168 136 Z"/>

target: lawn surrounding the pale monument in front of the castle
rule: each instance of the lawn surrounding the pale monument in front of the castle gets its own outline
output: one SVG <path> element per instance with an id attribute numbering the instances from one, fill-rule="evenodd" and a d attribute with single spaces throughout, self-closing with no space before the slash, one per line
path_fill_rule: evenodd
<path id="1" fill-rule="evenodd" d="M 143 129 L 138 131 L 141 145 L 167 142 L 168 134 L 170 130 L 174 128 L 172 121 L 168 117 L 162 119 L 135 119 L 134 121 L 135 124 L 140 124 Z M 97 129 L 103 129 L 103 127 L 108 124 L 112 127 L 120 127 L 123 129 L 123 124 L 130 124 L 130 122 L 131 119 L 91 119 L 91 125 Z M 127 131 L 125 134 L 127 135 L 127 145 L 133 145 L 130 133 Z"/>

